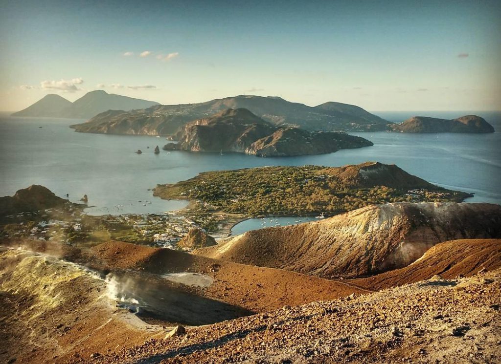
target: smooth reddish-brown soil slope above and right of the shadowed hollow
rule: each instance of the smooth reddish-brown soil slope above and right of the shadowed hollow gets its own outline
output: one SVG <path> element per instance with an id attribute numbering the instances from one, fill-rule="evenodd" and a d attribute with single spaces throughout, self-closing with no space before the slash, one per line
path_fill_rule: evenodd
<path id="1" fill-rule="evenodd" d="M 253 312 L 364 293 L 363 289 L 343 282 L 165 248 L 110 241 L 93 247 L 92 251 L 108 269 L 137 269 L 157 274 L 190 271 L 210 275 L 213 283 L 199 294 Z"/>

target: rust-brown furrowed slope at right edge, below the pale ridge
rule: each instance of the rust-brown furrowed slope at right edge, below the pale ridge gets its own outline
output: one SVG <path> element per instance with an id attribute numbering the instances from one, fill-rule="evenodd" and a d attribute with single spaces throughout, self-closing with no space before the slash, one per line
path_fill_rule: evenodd
<path id="1" fill-rule="evenodd" d="M 384 289 L 414 283 L 435 274 L 444 278 L 469 276 L 501 267 L 501 239 L 462 239 L 431 247 L 412 264 L 367 278 L 350 281 L 369 289 Z"/>

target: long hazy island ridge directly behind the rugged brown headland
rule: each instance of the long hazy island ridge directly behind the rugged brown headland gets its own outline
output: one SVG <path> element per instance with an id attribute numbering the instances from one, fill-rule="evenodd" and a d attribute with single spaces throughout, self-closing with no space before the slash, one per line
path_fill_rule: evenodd
<path id="1" fill-rule="evenodd" d="M 389 123 L 358 106 L 340 102 L 312 107 L 281 97 L 239 95 L 201 103 L 155 105 L 130 112 L 107 111 L 73 127 L 82 132 L 170 135 L 189 121 L 228 108 L 246 108 L 276 126 L 296 126 L 306 130 L 381 130 Z"/>

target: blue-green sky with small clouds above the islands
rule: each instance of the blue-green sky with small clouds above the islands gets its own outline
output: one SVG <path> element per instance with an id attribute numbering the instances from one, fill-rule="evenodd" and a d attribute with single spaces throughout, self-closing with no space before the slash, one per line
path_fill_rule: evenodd
<path id="1" fill-rule="evenodd" d="M 104 89 L 500 110 L 501 1 L 0 0 L 0 110 Z"/>

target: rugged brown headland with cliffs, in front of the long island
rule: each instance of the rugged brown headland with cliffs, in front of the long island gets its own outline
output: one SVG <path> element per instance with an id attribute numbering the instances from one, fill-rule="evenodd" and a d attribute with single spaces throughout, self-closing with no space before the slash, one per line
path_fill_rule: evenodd
<path id="1" fill-rule="evenodd" d="M 277 127 L 244 108 L 227 109 L 189 122 L 176 136 L 178 143 L 166 144 L 165 150 L 289 156 L 331 153 L 344 148 L 372 145 L 369 140 L 345 133 Z"/>

